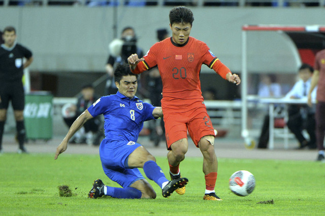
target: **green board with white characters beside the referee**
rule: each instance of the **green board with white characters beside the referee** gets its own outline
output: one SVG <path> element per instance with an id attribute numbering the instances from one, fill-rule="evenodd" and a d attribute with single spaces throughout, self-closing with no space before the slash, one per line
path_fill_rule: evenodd
<path id="1" fill-rule="evenodd" d="M 53 95 L 44 91 L 25 95 L 24 121 L 27 139 L 52 138 L 52 99 Z"/>

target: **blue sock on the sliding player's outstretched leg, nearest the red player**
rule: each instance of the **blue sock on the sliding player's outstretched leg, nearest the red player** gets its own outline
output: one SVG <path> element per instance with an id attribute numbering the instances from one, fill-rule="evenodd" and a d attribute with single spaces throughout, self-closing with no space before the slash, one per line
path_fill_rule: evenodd
<path id="1" fill-rule="evenodd" d="M 153 160 L 149 160 L 143 164 L 143 171 L 148 179 L 157 183 L 160 188 L 163 188 L 164 182 L 169 182 L 169 180 L 166 179 L 163 170 L 161 170 L 161 168 Z"/>

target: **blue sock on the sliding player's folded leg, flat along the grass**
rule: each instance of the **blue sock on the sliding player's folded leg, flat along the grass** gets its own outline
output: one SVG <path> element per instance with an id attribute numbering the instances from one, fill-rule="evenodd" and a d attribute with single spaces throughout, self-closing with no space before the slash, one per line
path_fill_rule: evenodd
<path id="1" fill-rule="evenodd" d="M 142 196 L 141 191 L 135 188 L 113 188 L 105 186 L 105 195 L 119 199 L 140 199 Z"/>

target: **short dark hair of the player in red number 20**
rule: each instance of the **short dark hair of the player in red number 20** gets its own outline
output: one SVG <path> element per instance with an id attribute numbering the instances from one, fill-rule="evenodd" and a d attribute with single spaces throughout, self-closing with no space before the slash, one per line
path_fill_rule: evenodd
<path id="1" fill-rule="evenodd" d="M 171 25 L 175 23 L 189 23 L 192 26 L 193 21 L 192 11 L 184 6 L 175 7 L 169 12 L 169 22 Z"/>

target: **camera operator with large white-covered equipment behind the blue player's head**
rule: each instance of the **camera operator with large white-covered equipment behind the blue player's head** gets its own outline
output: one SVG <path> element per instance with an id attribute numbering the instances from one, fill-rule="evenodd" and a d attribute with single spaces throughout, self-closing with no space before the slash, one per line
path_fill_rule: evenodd
<path id="1" fill-rule="evenodd" d="M 133 53 L 137 53 L 139 57 L 143 56 L 142 49 L 137 47 L 135 30 L 130 26 L 122 30 L 120 39 L 115 39 L 111 42 L 109 50 L 110 56 L 106 63 L 108 78 L 106 81 L 105 95 L 116 94 L 117 92 L 114 82 L 114 68 L 116 65 L 118 65 L 118 63 L 127 63 L 127 58 Z"/>

